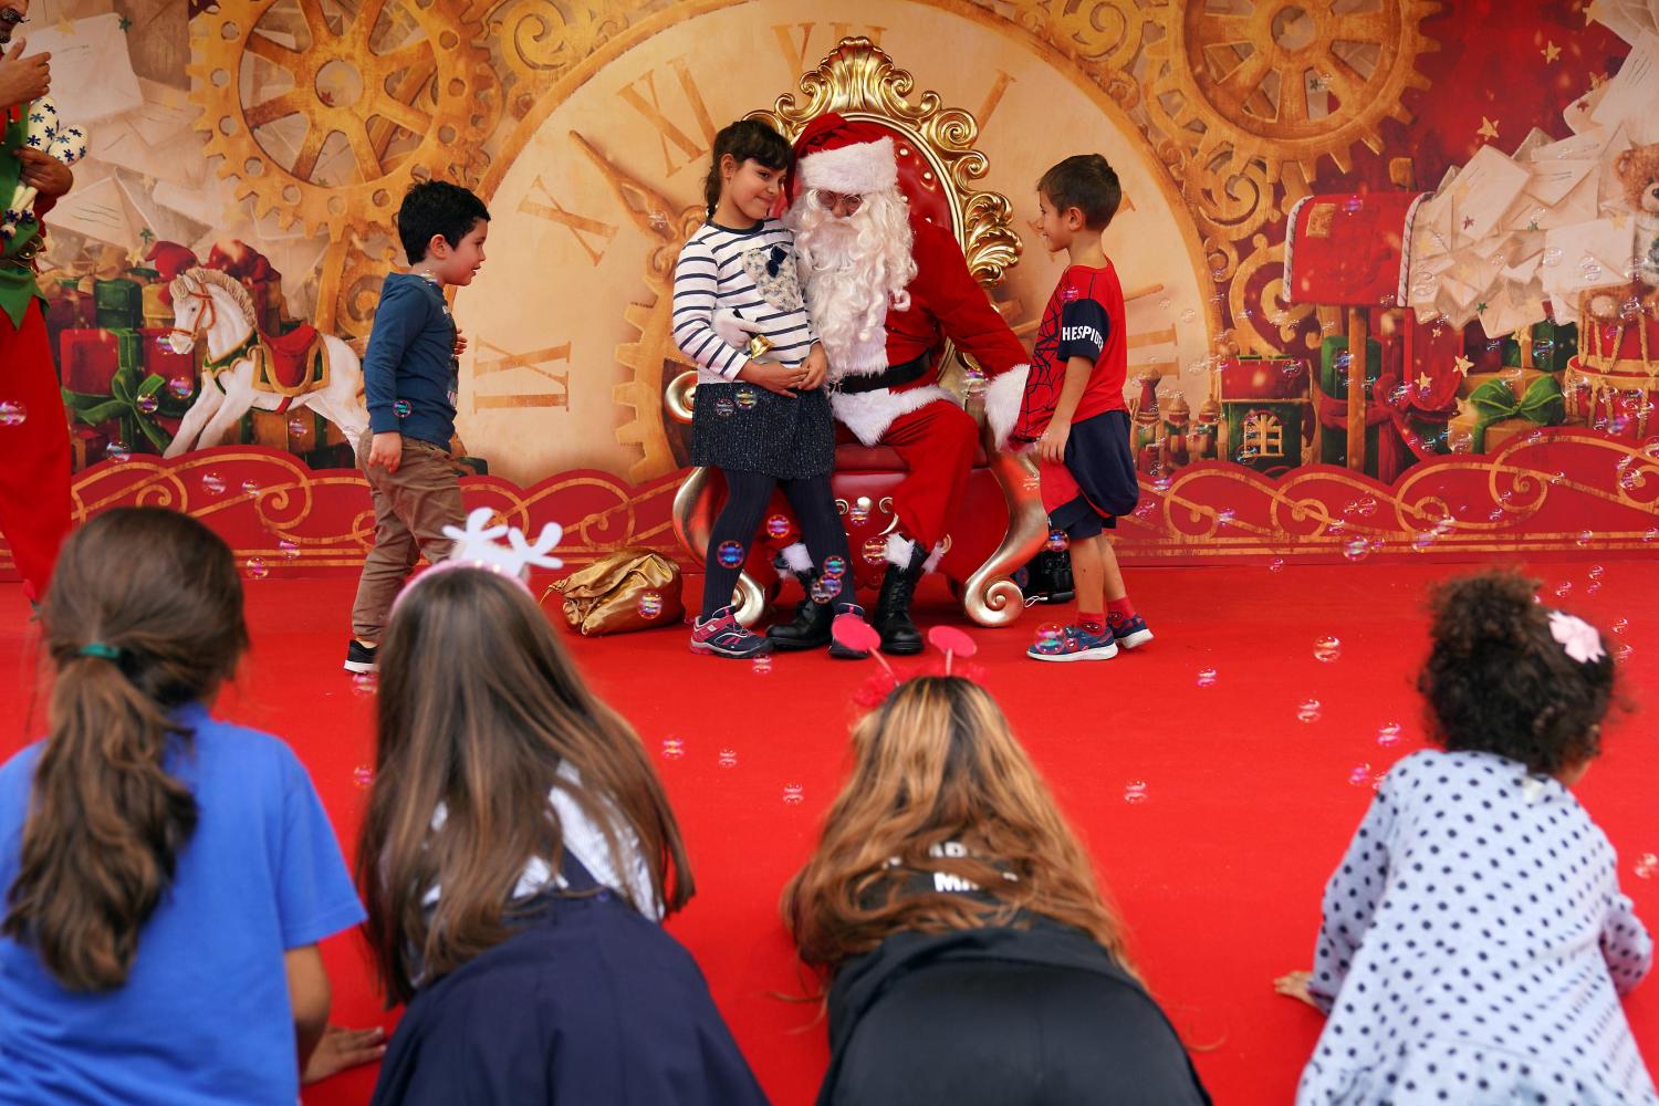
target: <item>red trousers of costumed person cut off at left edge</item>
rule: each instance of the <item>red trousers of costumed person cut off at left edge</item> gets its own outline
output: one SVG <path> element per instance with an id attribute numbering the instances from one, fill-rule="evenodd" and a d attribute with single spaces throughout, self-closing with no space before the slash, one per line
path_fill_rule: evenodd
<path id="1" fill-rule="evenodd" d="M 0 312 L 0 405 L 22 410 L 22 421 L 13 408 L 0 416 L 0 532 L 23 592 L 38 602 L 71 519 L 70 428 L 38 300 L 23 310 L 22 327 Z"/>

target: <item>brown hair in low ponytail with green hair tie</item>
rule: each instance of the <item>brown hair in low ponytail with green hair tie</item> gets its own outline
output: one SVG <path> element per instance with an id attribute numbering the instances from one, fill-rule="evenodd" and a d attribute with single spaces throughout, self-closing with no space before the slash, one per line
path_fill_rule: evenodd
<path id="1" fill-rule="evenodd" d="M 236 672 L 242 585 L 196 519 L 119 507 L 63 544 L 40 620 L 55 670 L 50 736 L 0 932 L 32 945 L 63 987 L 108 992 L 126 983 L 196 831 L 196 798 L 164 768 L 192 735 L 168 711 Z"/>

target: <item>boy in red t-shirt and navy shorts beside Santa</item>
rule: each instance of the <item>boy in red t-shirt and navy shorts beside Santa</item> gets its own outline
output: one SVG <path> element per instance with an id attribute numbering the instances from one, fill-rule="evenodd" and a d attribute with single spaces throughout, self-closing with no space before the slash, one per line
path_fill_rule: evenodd
<path id="1" fill-rule="evenodd" d="M 1100 154 L 1067 158 L 1037 182 L 1035 230 L 1070 265 L 1044 308 L 1012 438 L 1037 443 L 1048 524 L 1072 539 L 1078 625 L 1027 650 L 1034 660 L 1108 660 L 1151 640 L 1105 536 L 1140 499 L 1123 403 L 1123 285 L 1100 247 L 1121 199 Z"/>

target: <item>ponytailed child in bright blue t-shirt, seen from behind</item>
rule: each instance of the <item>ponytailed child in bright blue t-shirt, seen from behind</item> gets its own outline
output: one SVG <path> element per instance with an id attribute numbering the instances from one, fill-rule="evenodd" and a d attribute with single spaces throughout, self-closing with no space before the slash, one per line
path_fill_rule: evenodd
<path id="1" fill-rule="evenodd" d="M 247 648 L 229 547 L 101 514 L 41 627 L 50 735 L 0 766 L 0 1103 L 290 1106 L 317 942 L 363 909 L 294 753 L 211 715 Z"/>

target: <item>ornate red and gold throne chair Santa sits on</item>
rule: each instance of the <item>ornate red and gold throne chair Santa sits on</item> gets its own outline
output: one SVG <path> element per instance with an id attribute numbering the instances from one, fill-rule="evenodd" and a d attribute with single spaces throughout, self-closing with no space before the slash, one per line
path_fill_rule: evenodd
<path id="1" fill-rule="evenodd" d="M 972 187 L 987 167 L 985 156 L 974 149 L 979 136 L 974 116 L 942 108 L 932 91 L 911 98 L 914 78 L 894 68 L 893 60 L 868 38 L 843 38 L 815 71 L 801 76 L 800 86 L 800 101 L 788 93 L 770 111 L 753 111 L 748 118 L 771 124 L 791 143 L 810 119 L 825 111 L 886 128 L 894 139 L 899 184 L 911 209 L 929 222 L 951 227 L 962 244 L 969 270 L 989 293 L 1019 260 L 1020 239 L 1012 229 L 1007 197 Z M 1007 625 L 1025 609 L 1012 574 L 1037 554 L 1048 532 L 1037 469 L 1022 456 L 992 448 L 982 396 L 969 386 L 974 378 L 969 358 L 949 343 L 939 357 L 949 366 L 946 388 L 964 400 L 980 426 L 980 448 L 937 570 L 969 618 L 985 627 Z M 690 423 L 695 386 L 695 371 L 682 373 L 669 385 L 669 411 L 682 423 Z M 848 532 L 848 575 L 859 587 L 881 585 L 886 560 L 879 549 L 898 526 L 893 489 L 904 474 L 902 461 L 889 448 L 856 441 L 836 446 L 831 486 Z M 675 494 L 674 531 L 698 564 L 707 554 L 708 534 L 723 501 L 725 481 L 718 469 L 692 469 Z M 791 516 L 781 494 L 773 499 L 770 514 Z M 776 539 L 761 531 L 750 546 L 738 579 L 737 618 L 743 625 L 753 625 L 776 595 L 776 554 L 798 541 L 796 532 L 791 519 L 788 536 Z"/>

